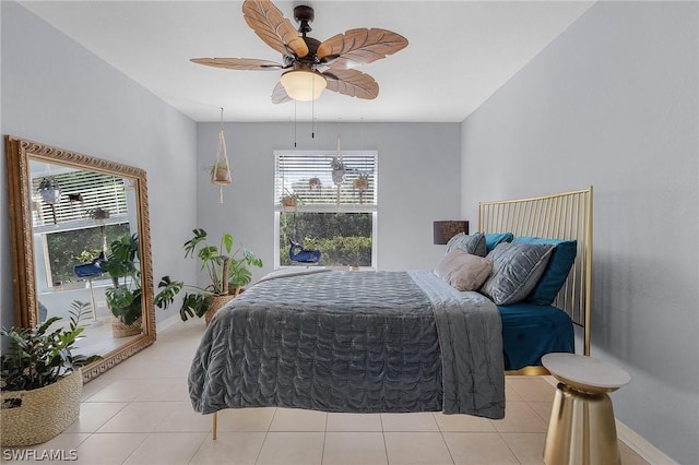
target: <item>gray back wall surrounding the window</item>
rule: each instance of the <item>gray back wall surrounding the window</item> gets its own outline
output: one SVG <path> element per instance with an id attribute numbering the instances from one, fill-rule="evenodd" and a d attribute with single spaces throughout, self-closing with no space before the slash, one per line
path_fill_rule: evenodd
<path id="1" fill-rule="evenodd" d="M 217 237 L 233 233 L 274 263 L 275 150 L 294 148 L 294 123 L 226 123 L 225 136 L 233 183 L 209 182 L 206 166 L 215 158 L 218 123 L 198 126 L 198 225 Z M 316 123 L 297 124 L 297 150 L 378 151 L 378 267 L 431 269 L 443 254 L 433 245 L 433 220 L 460 217 L 461 124 L 459 123 Z"/>

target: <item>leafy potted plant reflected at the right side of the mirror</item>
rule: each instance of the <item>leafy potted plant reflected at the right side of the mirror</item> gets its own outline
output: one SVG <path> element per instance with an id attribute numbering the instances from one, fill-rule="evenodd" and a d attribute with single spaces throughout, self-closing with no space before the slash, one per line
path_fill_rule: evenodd
<path id="1" fill-rule="evenodd" d="M 109 273 L 112 282 L 112 287 L 105 290 L 105 297 L 115 317 L 111 325 L 115 337 L 141 333 L 141 271 L 137 261 L 139 236 L 133 234 L 123 235 L 111 242 L 107 260 L 99 263 L 99 266 Z"/>

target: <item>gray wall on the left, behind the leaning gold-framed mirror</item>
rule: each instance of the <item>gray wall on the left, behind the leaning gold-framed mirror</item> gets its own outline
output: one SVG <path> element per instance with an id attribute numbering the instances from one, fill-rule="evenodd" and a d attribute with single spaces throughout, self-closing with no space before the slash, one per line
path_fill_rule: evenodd
<path id="1" fill-rule="evenodd" d="M 0 131 L 145 169 L 155 276 L 177 273 L 193 279 L 196 273 L 179 248 L 180 237 L 196 222 L 197 124 L 23 7 L 2 1 L 0 8 Z M 2 325 L 10 326 L 12 262 L 4 163 L 2 156 L 0 302 Z M 168 315 L 157 311 L 158 320 Z"/>

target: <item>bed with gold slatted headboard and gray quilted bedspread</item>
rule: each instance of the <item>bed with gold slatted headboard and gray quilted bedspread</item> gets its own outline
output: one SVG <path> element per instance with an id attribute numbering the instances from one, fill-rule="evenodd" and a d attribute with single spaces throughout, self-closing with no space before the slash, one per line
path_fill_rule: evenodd
<path id="1" fill-rule="evenodd" d="M 452 238 L 435 271 L 269 276 L 208 326 L 189 373 L 192 405 L 214 414 L 214 439 L 225 408 L 502 418 L 506 372 L 545 372 L 543 355 L 573 350 L 573 324 L 584 327 L 589 351 L 591 218 L 592 188 L 484 202 L 479 231 Z M 562 278 L 557 271 L 552 295 L 544 278 L 564 246 L 572 263 Z M 461 274 L 477 274 L 474 288 L 443 273 L 464 258 L 490 266 Z M 512 285 L 512 271 L 530 262 L 536 277 Z"/>

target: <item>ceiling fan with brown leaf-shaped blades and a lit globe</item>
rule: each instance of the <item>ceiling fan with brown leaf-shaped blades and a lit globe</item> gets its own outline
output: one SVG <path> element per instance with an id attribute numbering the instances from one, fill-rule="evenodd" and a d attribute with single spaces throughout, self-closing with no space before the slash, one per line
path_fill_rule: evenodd
<path id="1" fill-rule="evenodd" d="M 294 8 L 298 31 L 270 0 L 245 0 L 242 14 L 252 31 L 282 53 L 282 63 L 253 58 L 192 58 L 190 61 L 232 70 L 287 70 L 272 91 L 274 104 L 315 100 L 324 88 L 351 97 L 376 98 L 379 84 L 354 68 L 407 46 L 405 37 L 380 28 L 350 29 L 321 43 L 307 35 L 315 19 L 313 9 L 308 5 Z"/>

